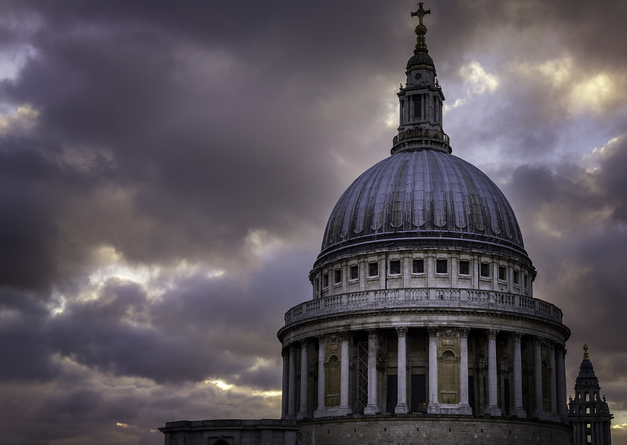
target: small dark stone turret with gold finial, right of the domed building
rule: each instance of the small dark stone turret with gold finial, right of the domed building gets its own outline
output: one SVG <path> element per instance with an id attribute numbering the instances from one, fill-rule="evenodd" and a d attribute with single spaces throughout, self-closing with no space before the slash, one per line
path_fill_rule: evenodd
<path id="1" fill-rule="evenodd" d="M 579 375 L 575 380 L 575 398 L 568 402 L 568 423 L 573 427 L 573 445 L 610 445 L 612 414 L 605 396 L 599 396 L 601 387 L 584 345 Z"/>

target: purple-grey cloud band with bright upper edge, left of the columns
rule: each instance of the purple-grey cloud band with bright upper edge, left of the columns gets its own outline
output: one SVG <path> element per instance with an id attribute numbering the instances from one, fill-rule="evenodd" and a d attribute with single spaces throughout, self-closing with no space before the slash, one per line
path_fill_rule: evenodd
<path id="1" fill-rule="evenodd" d="M 137 283 L 108 279 L 98 295 L 68 299 L 52 318 L 37 300 L 6 292 L 2 309 L 13 315 L 1 327 L 10 339 L 1 348 L 13 359 L 0 375 L 45 380 L 59 371 L 59 356 L 159 383 L 222 379 L 274 389 L 280 384 L 276 330 L 284 308 L 307 298 L 300 272 L 310 262 L 290 254 L 253 274 L 247 286 L 192 276 L 158 299 Z M 256 366 L 258 359 L 268 363 Z"/>

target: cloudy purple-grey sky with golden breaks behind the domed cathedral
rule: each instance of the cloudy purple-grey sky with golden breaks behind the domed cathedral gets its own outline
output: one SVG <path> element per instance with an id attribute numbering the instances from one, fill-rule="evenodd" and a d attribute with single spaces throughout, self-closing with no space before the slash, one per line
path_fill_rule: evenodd
<path id="1" fill-rule="evenodd" d="M 438 0 L 453 153 L 509 198 L 534 296 L 627 444 L 627 3 Z M 389 156 L 414 1 L 0 2 L 0 421 L 162 444 L 278 418 L 284 313 Z"/>

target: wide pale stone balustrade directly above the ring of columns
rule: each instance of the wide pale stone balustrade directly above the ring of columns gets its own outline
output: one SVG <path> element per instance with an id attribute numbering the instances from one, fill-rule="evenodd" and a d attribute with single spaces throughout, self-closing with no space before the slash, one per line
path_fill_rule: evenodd
<path id="1" fill-rule="evenodd" d="M 562 311 L 541 299 L 477 289 L 401 288 L 332 295 L 304 302 L 286 312 L 285 323 L 333 313 L 389 308 L 469 308 L 508 311 L 562 322 Z"/>

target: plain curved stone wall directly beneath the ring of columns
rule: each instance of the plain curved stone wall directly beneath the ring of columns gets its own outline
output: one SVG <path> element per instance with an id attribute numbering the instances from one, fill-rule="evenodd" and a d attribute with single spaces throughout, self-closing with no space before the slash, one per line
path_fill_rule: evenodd
<path id="1" fill-rule="evenodd" d="M 307 445 L 571 443 L 571 428 L 566 424 L 490 416 L 350 416 L 307 419 L 297 425 L 298 441 Z"/>

